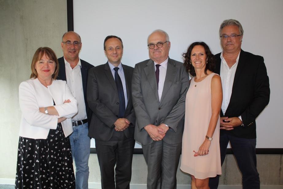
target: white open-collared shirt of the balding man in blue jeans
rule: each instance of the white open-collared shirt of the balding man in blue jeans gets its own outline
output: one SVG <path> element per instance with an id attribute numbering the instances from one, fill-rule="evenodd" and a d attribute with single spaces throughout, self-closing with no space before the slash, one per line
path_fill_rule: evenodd
<path id="1" fill-rule="evenodd" d="M 87 119 L 86 105 L 84 101 L 83 95 L 83 81 L 82 81 L 82 73 L 81 73 L 81 61 L 79 59 L 78 64 L 74 69 L 70 66 L 70 64 L 65 61 L 65 70 L 66 70 L 66 79 L 67 84 L 75 98 L 78 100 L 78 113 L 72 117 L 72 121 L 79 121 Z"/>

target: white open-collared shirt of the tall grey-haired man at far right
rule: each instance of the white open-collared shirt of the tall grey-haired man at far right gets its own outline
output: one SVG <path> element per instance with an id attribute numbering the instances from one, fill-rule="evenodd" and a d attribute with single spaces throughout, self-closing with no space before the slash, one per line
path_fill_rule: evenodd
<path id="1" fill-rule="evenodd" d="M 233 82 L 234 82 L 235 73 L 236 73 L 236 69 L 238 66 L 238 62 L 239 62 L 239 57 L 240 57 L 240 53 L 238 54 L 235 64 L 232 65 L 231 68 L 229 68 L 229 66 L 227 65 L 227 62 L 225 61 L 225 58 L 223 57 L 223 52 L 221 52 L 220 54 L 220 58 L 221 58 L 220 77 L 221 77 L 221 83 L 222 83 L 222 88 L 223 88 L 223 101 L 222 101 L 221 109 L 222 109 L 223 114 L 225 114 L 227 107 L 230 103 Z M 241 119 L 241 116 L 239 116 L 239 118 Z"/>

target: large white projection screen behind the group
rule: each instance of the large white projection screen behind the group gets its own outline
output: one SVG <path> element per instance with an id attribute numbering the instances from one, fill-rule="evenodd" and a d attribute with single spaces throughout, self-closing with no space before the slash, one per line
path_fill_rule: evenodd
<path id="1" fill-rule="evenodd" d="M 82 39 L 81 59 L 95 66 L 105 64 L 103 41 L 116 35 L 124 45 L 122 63 L 132 67 L 149 58 L 147 37 L 153 30 L 169 34 L 169 57 L 182 62 L 181 54 L 194 41 L 206 42 L 214 54 L 221 52 L 221 22 L 238 20 L 244 29 L 242 49 L 263 56 L 269 76 L 270 102 L 256 120 L 257 148 L 282 151 L 282 10 L 282 0 L 73 0 L 71 19 Z"/>

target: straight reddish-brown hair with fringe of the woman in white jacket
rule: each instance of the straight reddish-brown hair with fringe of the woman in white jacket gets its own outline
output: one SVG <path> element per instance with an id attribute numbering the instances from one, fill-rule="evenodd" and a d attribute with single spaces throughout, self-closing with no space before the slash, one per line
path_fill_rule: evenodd
<path id="1" fill-rule="evenodd" d="M 56 57 L 56 54 L 54 53 L 54 51 L 52 49 L 50 49 L 49 47 L 39 47 L 34 55 L 33 55 L 33 61 L 31 63 L 31 75 L 30 78 L 37 78 L 37 71 L 35 69 L 35 63 L 44 55 L 49 57 L 50 60 L 55 62 L 55 71 L 52 74 L 52 79 L 56 80 L 57 76 L 58 76 L 58 72 L 59 72 L 59 63 Z"/>

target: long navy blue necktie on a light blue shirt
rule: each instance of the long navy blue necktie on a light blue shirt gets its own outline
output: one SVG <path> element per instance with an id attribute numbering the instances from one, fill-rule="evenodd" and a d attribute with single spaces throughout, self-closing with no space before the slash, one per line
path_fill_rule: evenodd
<path id="1" fill-rule="evenodd" d="M 123 118 L 124 114 L 125 114 L 125 96 L 124 96 L 124 90 L 123 90 L 123 84 L 121 81 L 121 78 L 118 74 L 118 67 L 115 67 L 115 83 L 117 86 L 117 90 L 118 90 L 118 95 L 119 95 L 119 114 L 118 114 L 118 118 Z"/>

